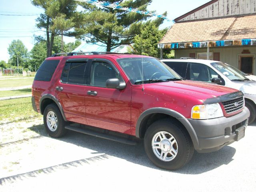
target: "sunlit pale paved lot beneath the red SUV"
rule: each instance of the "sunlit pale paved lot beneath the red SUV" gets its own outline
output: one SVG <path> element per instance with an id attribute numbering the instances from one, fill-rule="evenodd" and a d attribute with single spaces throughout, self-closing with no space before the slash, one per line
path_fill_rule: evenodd
<path id="1" fill-rule="evenodd" d="M 31 128 L 32 129 L 32 128 Z M 0 145 L 0 191 L 255 191 L 256 123 L 239 142 L 208 154 L 194 153 L 180 170 L 148 160 L 143 143 L 129 146 L 69 132 Z"/>

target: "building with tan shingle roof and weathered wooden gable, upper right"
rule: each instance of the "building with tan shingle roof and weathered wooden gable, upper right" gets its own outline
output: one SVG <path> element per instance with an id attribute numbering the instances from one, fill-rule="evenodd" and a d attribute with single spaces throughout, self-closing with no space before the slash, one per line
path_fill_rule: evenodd
<path id="1" fill-rule="evenodd" d="M 256 74 L 256 0 L 212 0 L 176 18 L 158 48 Z"/>

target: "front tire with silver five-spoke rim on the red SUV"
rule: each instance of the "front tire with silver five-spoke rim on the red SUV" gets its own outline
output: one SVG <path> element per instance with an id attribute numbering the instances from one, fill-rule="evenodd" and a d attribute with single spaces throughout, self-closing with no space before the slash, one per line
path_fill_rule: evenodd
<path id="1" fill-rule="evenodd" d="M 144 148 L 158 167 L 176 170 L 190 161 L 194 153 L 192 140 L 180 124 L 171 119 L 158 120 L 146 131 Z"/>

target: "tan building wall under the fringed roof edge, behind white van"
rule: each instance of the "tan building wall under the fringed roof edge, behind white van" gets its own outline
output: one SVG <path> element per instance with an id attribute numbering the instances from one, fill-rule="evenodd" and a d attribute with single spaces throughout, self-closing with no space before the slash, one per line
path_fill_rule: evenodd
<path id="1" fill-rule="evenodd" d="M 243 50 L 249 50 L 250 54 L 242 54 Z M 201 53 L 201 52 L 207 52 L 207 49 L 184 49 L 184 50 L 175 50 L 175 58 L 181 58 L 181 57 L 189 57 L 192 55 L 196 56 L 196 53 Z M 253 58 L 253 65 L 254 65 L 254 75 L 256 75 L 256 46 L 253 47 L 235 47 L 235 48 L 210 48 L 210 52 L 220 53 L 220 61 L 230 64 L 236 68 L 238 68 L 238 58 L 239 55 L 252 55 L 254 56 Z"/>

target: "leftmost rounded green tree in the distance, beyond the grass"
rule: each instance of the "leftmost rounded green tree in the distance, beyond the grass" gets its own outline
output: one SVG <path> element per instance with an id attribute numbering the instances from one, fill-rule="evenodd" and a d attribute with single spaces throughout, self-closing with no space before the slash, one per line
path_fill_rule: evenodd
<path id="1" fill-rule="evenodd" d="M 24 67 L 26 62 L 28 62 L 28 49 L 22 43 L 21 40 L 13 40 L 8 47 L 8 53 L 10 55 L 9 64 L 12 66 Z"/>

